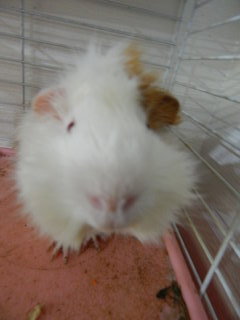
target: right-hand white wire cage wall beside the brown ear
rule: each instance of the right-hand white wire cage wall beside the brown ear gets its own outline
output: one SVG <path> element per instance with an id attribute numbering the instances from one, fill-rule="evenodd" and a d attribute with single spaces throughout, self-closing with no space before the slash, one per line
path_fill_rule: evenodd
<path id="1" fill-rule="evenodd" d="M 239 13 L 236 1 L 191 7 L 171 83 L 185 120 L 173 133 L 202 175 L 197 204 L 185 211 L 188 234 L 175 231 L 213 319 L 240 317 Z"/>

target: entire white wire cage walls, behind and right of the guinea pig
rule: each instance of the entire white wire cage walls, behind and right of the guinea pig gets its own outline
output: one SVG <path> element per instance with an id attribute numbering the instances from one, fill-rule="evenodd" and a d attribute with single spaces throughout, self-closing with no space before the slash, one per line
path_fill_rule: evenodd
<path id="1" fill-rule="evenodd" d="M 165 4 L 164 4 L 165 3 Z M 171 130 L 199 162 L 197 201 L 174 226 L 213 319 L 239 319 L 240 3 L 238 0 L 0 0 L 0 146 L 18 117 L 88 39 L 140 42 L 179 98 Z"/>

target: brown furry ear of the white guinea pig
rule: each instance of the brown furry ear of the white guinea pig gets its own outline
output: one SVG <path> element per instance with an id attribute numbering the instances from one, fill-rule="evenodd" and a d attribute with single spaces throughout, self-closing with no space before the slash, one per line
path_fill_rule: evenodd
<path id="1" fill-rule="evenodd" d="M 149 87 L 142 91 L 143 107 L 147 113 L 147 126 L 156 130 L 181 121 L 180 104 L 167 91 Z"/>

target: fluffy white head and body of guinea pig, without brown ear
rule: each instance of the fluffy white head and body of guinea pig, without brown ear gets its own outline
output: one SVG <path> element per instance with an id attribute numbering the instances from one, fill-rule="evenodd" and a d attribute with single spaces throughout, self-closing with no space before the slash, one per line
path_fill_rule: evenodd
<path id="1" fill-rule="evenodd" d="M 192 160 L 147 128 L 125 59 L 119 48 L 89 50 L 19 127 L 20 200 L 64 251 L 99 233 L 156 242 L 192 199 Z"/>

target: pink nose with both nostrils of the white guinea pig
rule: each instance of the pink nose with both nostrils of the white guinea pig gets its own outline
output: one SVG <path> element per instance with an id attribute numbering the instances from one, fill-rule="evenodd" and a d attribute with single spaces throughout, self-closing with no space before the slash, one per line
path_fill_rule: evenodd
<path id="1" fill-rule="evenodd" d="M 123 211 L 127 211 L 136 202 L 136 196 L 128 195 L 121 200 L 111 197 L 105 199 L 98 196 L 90 196 L 89 201 L 98 210 L 107 209 L 108 212 L 115 212 L 120 207 Z"/>

